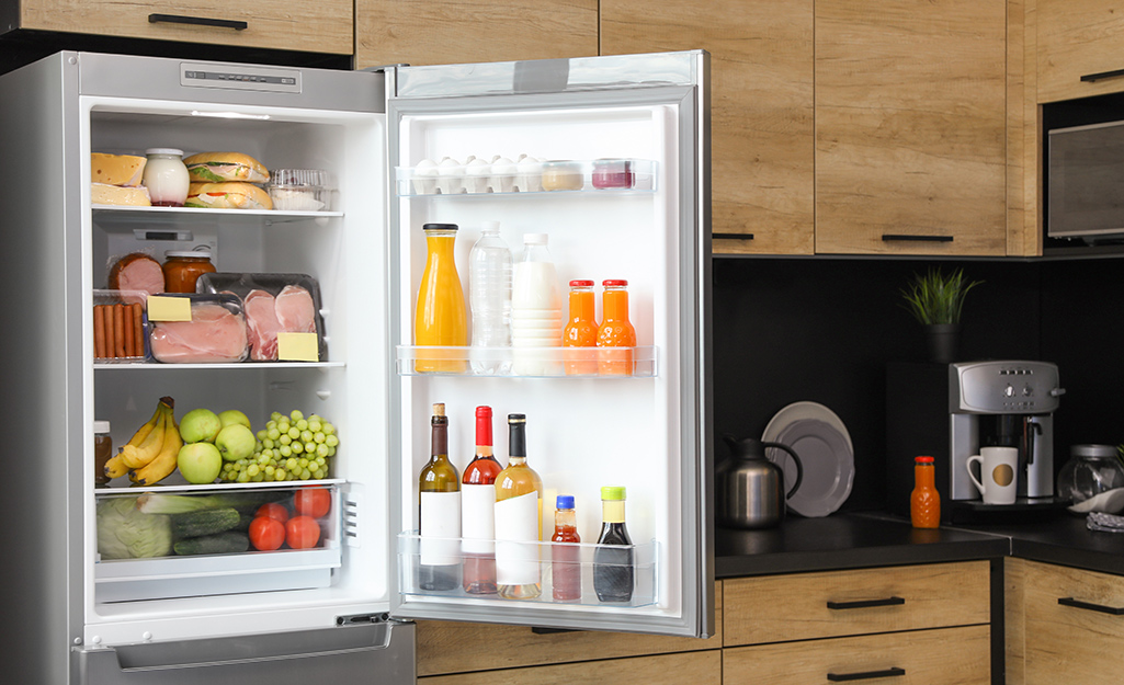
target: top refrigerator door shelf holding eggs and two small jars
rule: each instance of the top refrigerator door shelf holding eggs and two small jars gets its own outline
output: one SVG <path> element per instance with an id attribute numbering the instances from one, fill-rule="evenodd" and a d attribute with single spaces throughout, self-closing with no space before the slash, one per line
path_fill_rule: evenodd
<path id="1" fill-rule="evenodd" d="M 652 193 L 655 162 L 651 159 L 518 161 L 450 157 L 428 166 L 396 166 L 400 198 L 464 195 L 532 195 L 543 193 Z"/>

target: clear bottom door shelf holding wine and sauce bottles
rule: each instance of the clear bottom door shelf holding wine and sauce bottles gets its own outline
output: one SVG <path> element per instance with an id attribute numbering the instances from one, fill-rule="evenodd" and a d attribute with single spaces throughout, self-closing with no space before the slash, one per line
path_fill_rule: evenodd
<path id="1" fill-rule="evenodd" d="M 464 546 L 483 546 L 480 548 L 483 554 L 472 555 L 464 551 Z M 488 552 L 488 547 L 496 545 L 497 551 Z M 505 547 L 506 546 L 506 552 Z M 631 550 L 632 559 L 627 558 Z M 496 559 L 496 555 L 500 559 Z M 462 574 L 465 560 L 469 563 L 479 561 L 481 558 L 490 560 L 504 568 L 502 555 L 509 557 L 508 569 L 515 574 L 529 574 L 528 577 L 537 577 L 542 588 L 538 597 L 533 600 L 507 600 L 496 594 L 469 594 L 462 586 Z M 565 606 L 601 606 L 601 608 L 637 608 L 651 606 L 659 603 L 656 588 L 658 573 L 656 559 L 659 558 L 659 544 L 655 540 L 631 547 L 617 545 L 596 544 L 571 544 L 571 542 L 489 542 L 480 540 L 464 540 L 462 538 L 434 538 L 417 535 L 417 531 L 407 531 L 398 535 L 398 578 L 399 587 L 404 594 L 434 597 L 434 599 L 461 599 L 479 602 L 499 603 L 531 603 L 534 605 L 560 604 Z M 423 559 L 442 561 L 437 568 L 446 569 L 446 576 L 455 581 L 452 590 L 426 590 L 419 584 L 419 567 Z M 558 570 L 555 570 L 558 561 Z M 436 565 L 434 565 L 436 566 Z M 579 567 L 581 576 L 580 593 L 571 596 L 568 601 L 554 600 L 555 579 L 564 570 L 572 570 Z M 432 566 L 430 566 L 432 567 Z M 615 577 L 626 578 L 632 572 L 632 596 L 624 602 L 602 602 L 598 599 L 595 590 L 595 574 L 602 578 Z M 439 575 L 439 574 L 438 574 Z M 627 584 L 627 581 L 625 581 Z M 572 586 L 571 586 L 572 587 Z"/>

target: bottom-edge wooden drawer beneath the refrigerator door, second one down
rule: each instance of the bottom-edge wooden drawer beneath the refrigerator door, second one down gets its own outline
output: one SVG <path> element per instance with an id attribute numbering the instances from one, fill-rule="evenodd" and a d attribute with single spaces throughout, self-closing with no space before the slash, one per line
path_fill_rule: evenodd
<path id="1" fill-rule="evenodd" d="M 688 639 L 688 638 L 683 638 Z M 504 656 L 492 652 L 498 663 Z M 629 659 L 508 668 L 418 678 L 420 685 L 700 685 L 722 683 L 722 651 L 694 651 Z"/>

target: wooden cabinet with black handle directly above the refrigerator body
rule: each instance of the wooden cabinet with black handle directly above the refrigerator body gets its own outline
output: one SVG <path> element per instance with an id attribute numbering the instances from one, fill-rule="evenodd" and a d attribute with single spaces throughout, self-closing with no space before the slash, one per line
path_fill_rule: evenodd
<path id="1" fill-rule="evenodd" d="M 351 0 L 19 0 L 17 11 L 10 28 L 337 55 L 354 45 Z M 194 22 L 152 20 L 160 16 Z M 201 49 L 199 60 L 207 58 Z"/>

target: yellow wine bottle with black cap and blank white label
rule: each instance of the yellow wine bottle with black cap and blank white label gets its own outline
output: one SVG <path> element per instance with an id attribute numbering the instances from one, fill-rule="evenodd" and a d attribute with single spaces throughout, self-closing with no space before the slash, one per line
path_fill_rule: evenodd
<path id="1" fill-rule="evenodd" d="M 543 481 L 527 466 L 527 418 L 508 414 L 507 468 L 496 476 L 496 584 L 499 596 L 533 600 L 542 593 Z"/>

